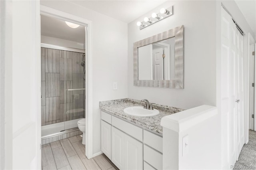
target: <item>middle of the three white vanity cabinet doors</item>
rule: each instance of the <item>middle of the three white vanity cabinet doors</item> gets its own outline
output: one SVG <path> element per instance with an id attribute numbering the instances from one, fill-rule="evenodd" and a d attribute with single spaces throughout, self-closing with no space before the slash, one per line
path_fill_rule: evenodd
<path id="1" fill-rule="evenodd" d="M 124 139 L 125 133 L 112 127 L 112 156 L 111 161 L 120 169 L 124 169 Z"/>

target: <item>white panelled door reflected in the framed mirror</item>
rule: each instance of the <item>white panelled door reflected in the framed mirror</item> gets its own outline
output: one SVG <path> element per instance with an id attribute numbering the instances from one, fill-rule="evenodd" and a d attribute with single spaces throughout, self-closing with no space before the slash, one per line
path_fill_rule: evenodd
<path id="1" fill-rule="evenodd" d="M 153 50 L 153 80 L 163 80 L 163 48 Z"/>

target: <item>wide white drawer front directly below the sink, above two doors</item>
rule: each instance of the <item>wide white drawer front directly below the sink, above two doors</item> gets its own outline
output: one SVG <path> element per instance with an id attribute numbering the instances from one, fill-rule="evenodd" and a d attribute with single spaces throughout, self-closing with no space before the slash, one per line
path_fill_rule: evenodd
<path id="1" fill-rule="evenodd" d="M 142 141 L 142 133 L 143 133 L 142 128 L 132 125 L 131 123 L 118 119 L 117 117 L 114 117 L 114 116 L 112 116 L 112 126 Z"/>

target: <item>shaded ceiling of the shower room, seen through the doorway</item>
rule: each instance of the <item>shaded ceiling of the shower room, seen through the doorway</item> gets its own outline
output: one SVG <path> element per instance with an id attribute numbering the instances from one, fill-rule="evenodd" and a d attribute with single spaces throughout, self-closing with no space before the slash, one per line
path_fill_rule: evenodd
<path id="1" fill-rule="evenodd" d="M 41 35 L 84 43 L 85 27 L 70 28 L 63 20 L 41 15 Z"/>

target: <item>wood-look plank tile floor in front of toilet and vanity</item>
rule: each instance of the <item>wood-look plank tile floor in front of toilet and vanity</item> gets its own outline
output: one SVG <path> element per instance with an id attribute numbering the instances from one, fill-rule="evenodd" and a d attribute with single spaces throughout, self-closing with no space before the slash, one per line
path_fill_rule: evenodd
<path id="1" fill-rule="evenodd" d="M 42 170 L 118 170 L 101 154 L 87 159 L 80 135 L 42 145 Z"/>

